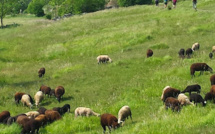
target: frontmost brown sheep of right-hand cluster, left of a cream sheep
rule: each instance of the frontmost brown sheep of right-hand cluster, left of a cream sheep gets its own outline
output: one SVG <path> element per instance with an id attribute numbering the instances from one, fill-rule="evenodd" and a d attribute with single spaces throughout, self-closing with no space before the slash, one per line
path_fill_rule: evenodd
<path id="1" fill-rule="evenodd" d="M 172 111 L 177 111 L 179 112 L 181 107 L 180 107 L 180 102 L 178 99 L 176 98 L 173 98 L 173 97 L 168 97 L 166 100 L 165 100 L 165 108 L 168 109 L 168 108 L 171 108 Z"/>

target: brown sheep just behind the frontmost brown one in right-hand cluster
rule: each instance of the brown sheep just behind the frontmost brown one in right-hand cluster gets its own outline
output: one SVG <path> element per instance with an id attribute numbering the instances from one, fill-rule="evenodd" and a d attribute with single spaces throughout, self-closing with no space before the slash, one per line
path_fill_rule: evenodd
<path id="1" fill-rule="evenodd" d="M 167 88 L 163 93 L 163 102 L 165 102 L 168 97 L 176 98 L 180 93 L 181 93 L 181 91 L 178 89 L 171 88 L 171 87 Z"/>

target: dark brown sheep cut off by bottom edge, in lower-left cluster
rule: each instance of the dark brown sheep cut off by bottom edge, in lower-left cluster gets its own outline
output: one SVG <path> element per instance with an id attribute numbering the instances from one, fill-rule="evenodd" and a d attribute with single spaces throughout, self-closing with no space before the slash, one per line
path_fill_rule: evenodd
<path id="1" fill-rule="evenodd" d="M 42 123 L 35 119 L 31 119 L 27 122 L 24 122 L 21 134 L 29 134 L 29 133 L 34 134 L 35 131 L 38 134 L 41 125 Z"/>

